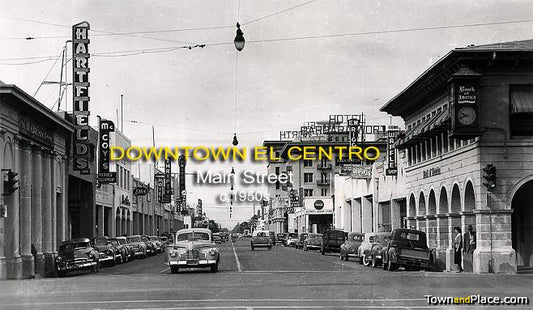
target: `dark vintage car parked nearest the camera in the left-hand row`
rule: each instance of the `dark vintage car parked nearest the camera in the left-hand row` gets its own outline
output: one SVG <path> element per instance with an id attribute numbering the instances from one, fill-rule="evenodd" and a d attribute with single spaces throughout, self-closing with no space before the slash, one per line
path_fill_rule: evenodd
<path id="1" fill-rule="evenodd" d="M 91 240 L 88 238 L 72 239 L 59 245 L 55 260 L 58 277 L 76 270 L 98 272 L 98 265 L 98 251 L 91 246 Z"/>

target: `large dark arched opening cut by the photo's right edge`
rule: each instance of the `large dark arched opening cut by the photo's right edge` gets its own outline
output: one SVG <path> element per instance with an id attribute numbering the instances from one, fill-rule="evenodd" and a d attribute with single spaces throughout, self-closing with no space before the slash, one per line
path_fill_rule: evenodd
<path id="1" fill-rule="evenodd" d="M 533 271 L 533 180 L 520 186 L 511 203 L 512 244 L 519 272 Z"/>

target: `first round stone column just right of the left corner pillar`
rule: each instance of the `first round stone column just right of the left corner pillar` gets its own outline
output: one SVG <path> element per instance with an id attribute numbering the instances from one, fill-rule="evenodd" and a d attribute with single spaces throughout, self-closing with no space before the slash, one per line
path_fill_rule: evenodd
<path id="1" fill-rule="evenodd" d="M 22 277 L 33 278 L 35 276 L 35 261 L 31 253 L 31 188 L 32 152 L 31 144 L 27 141 L 21 144 L 20 161 L 20 255 L 22 256 Z"/>

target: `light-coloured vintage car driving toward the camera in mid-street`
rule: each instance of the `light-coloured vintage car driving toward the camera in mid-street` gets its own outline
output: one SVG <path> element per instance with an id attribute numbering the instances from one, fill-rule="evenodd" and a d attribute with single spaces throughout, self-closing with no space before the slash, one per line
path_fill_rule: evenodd
<path id="1" fill-rule="evenodd" d="M 182 229 L 176 233 L 174 244 L 168 247 L 166 260 L 172 273 L 178 273 L 180 268 L 206 267 L 217 272 L 220 253 L 213 243 L 211 230 Z"/>

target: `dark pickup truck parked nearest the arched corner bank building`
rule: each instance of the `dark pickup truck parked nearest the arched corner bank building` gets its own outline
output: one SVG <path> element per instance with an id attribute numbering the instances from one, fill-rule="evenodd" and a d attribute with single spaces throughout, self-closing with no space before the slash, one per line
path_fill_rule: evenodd
<path id="1" fill-rule="evenodd" d="M 382 250 L 383 269 L 435 268 L 435 253 L 428 248 L 426 233 L 420 230 L 397 228 Z"/>

